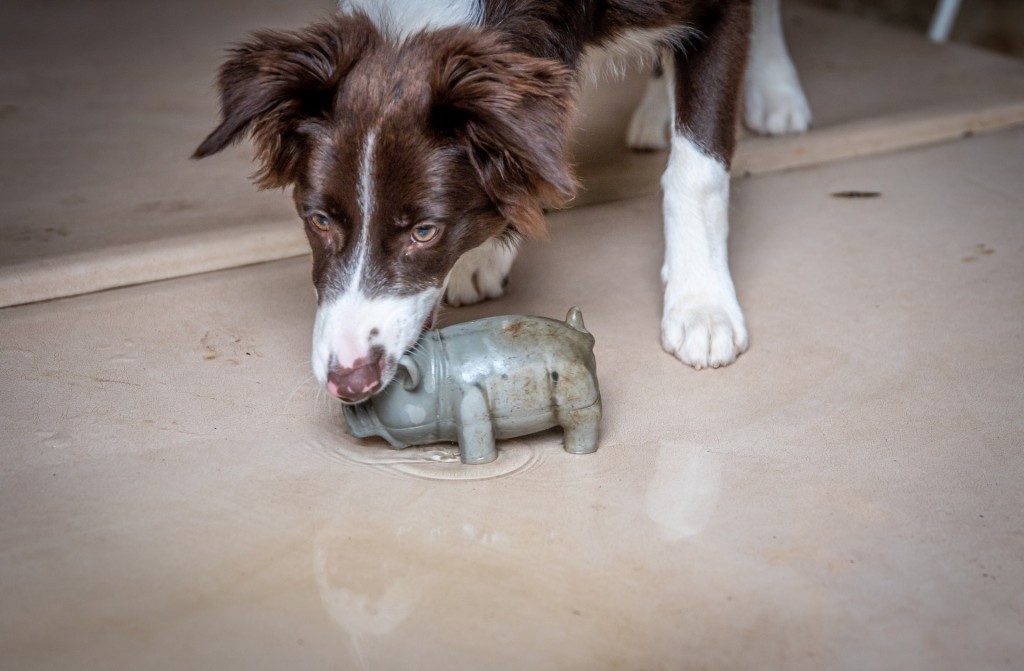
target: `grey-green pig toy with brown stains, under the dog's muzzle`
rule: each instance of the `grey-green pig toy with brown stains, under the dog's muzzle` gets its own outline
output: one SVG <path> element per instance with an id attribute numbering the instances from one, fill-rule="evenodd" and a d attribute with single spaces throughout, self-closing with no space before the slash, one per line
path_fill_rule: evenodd
<path id="1" fill-rule="evenodd" d="M 345 406 L 356 437 L 395 449 L 458 442 L 462 461 L 498 456 L 495 441 L 561 426 L 565 450 L 597 450 L 601 393 L 594 336 L 578 307 L 565 322 L 493 317 L 428 331 L 379 394 Z"/>

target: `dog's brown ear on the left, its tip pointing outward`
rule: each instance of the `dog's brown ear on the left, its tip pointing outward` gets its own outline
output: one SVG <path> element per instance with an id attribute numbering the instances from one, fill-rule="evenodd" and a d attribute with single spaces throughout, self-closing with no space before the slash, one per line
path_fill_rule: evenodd
<path id="1" fill-rule="evenodd" d="M 256 183 L 293 183 L 310 129 L 331 113 L 341 81 L 379 37 L 361 15 L 254 34 L 220 68 L 221 122 L 193 158 L 216 154 L 249 133 L 260 163 Z"/>

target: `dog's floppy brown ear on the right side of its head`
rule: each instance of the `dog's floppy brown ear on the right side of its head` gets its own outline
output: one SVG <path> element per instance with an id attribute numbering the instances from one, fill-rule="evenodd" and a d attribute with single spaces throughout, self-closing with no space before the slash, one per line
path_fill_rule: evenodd
<path id="1" fill-rule="evenodd" d="M 568 150 L 572 71 L 475 31 L 443 39 L 431 83 L 434 126 L 464 143 L 512 227 L 544 237 L 543 208 L 564 205 L 577 190 Z"/>

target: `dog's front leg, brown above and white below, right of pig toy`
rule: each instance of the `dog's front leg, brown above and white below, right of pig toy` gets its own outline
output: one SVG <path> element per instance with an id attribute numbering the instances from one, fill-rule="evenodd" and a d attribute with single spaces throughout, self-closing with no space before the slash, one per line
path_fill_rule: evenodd
<path id="1" fill-rule="evenodd" d="M 750 6 L 722 2 L 703 39 L 675 55 L 675 125 L 665 192 L 662 343 L 700 369 L 746 350 L 746 326 L 729 275 L 729 161 L 735 146 Z"/>

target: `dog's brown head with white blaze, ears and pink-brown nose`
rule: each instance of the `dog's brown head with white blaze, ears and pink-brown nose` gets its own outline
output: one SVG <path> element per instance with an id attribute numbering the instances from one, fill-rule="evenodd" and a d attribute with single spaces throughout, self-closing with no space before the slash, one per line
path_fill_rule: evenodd
<path id="1" fill-rule="evenodd" d="M 571 72 L 477 29 L 390 40 L 365 16 L 263 32 L 220 71 L 220 125 L 261 187 L 294 188 L 312 247 L 313 372 L 347 403 L 383 388 L 432 323 L 456 260 L 542 237 L 572 197 Z"/>

